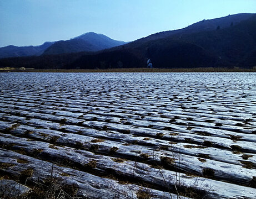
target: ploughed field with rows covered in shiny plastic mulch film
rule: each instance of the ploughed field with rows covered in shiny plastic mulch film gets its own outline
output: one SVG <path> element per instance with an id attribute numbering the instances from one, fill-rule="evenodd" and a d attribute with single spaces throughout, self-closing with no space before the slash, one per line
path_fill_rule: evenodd
<path id="1" fill-rule="evenodd" d="M 0 147 L 0 197 L 256 198 L 256 75 L 1 73 Z"/>

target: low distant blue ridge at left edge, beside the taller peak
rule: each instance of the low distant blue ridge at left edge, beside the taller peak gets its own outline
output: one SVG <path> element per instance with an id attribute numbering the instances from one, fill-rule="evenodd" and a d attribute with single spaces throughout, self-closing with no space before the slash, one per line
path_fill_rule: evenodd
<path id="1" fill-rule="evenodd" d="M 0 58 L 41 55 L 43 54 L 44 50 L 46 50 L 53 43 L 54 42 L 45 42 L 39 46 L 21 46 L 21 47 L 8 45 L 0 48 Z"/>

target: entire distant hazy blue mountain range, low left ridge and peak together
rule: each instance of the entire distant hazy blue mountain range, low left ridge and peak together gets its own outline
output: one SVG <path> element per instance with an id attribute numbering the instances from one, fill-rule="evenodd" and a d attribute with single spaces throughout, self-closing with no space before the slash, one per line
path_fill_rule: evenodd
<path id="1" fill-rule="evenodd" d="M 9 45 L 0 48 L 0 58 L 98 51 L 123 44 L 126 44 L 126 42 L 113 40 L 103 34 L 89 32 L 66 41 L 46 42 L 39 46 L 18 47 Z"/>

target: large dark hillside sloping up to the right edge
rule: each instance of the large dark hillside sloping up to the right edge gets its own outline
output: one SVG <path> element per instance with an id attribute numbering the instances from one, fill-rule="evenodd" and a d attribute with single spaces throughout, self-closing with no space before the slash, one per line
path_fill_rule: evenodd
<path id="1" fill-rule="evenodd" d="M 227 21 L 227 19 L 239 18 L 239 16 L 240 14 L 229 15 L 221 19 Z M 253 46 L 256 45 L 256 39 L 252 38 L 248 41 L 248 34 L 255 38 L 256 14 L 241 14 L 241 16 L 242 18 L 238 20 L 238 23 L 234 22 L 233 25 L 230 23 L 224 28 L 218 29 L 218 25 L 215 25 L 211 30 L 194 31 L 192 33 L 184 32 L 184 28 L 180 29 L 183 31 L 182 33 L 179 30 L 173 30 L 172 34 L 165 37 L 160 36 L 160 39 L 155 39 L 154 35 L 149 35 L 147 38 L 99 52 L 97 55 L 83 55 L 72 66 L 67 67 L 69 69 L 72 67 L 104 69 L 106 66 L 119 67 L 118 62 L 122 62 L 123 67 L 146 67 L 147 59 L 152 60 L 154 67 L 164 68 L 253 67 L 256 65 L 253 61 Z M 248 23 L 251 21 L 250 19 L 253 22 Z M 212 19 L 211 21 L 214 20 L 220 19 Z M 200 23 L 204 22 L 201 21 L 195 24 Z M 239 26 L 239 24 L 243 25 Z M 248 27 L 253 30 L 248 32 Z M 250 46 L 249 49 L 248 46 Z M 249 60 L 245 57 L 249 57 Z M 131 65 L 129 64 L 130 59 L 137 61 Z M 101 65 L 102 62 L 104 65 Z M 247 63 L 247 65 L 243 66 L 243 63 Z"/>

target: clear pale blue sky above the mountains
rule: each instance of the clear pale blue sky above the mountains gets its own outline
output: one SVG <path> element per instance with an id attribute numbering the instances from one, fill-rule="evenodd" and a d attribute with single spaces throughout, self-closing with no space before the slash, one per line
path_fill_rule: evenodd
<path id="1" fill-rule="evenodd" d="M 256 13 L 256 0 L 0 0 L 0 46 L 86 32 L 132 41 L 237 13 Z"/>

